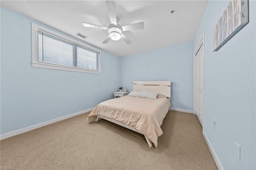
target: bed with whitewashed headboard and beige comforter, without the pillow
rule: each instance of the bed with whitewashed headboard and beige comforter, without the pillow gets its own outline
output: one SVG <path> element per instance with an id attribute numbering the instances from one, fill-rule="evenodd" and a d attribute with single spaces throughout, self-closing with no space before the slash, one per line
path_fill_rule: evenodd
<path id="1" fill-rule="evenodd" d="M 110 99 L 97 105 L 88 122 L 105 119 L 122 127 L 143 134 L 148 146 L 157 148 L 158 137 L 163 134 L 160 126 L 170 108 L 170 81 L 134 81 L 132 91 L 150 91 L 158 93 L 156 99 L 124 96 Z"/>

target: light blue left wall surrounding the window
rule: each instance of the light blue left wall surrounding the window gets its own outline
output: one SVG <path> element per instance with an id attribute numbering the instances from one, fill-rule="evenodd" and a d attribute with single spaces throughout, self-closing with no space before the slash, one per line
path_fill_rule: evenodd
<path id="1" fill-rule="evenodd" d="M 63 33 L 4 7 L 0 10 L 0 134 L 90 109 L 113 98 L 113 91 L 121 84 L 119 57 L 102 51 L 101 75 L 32 67 L 31 22 Z"/>

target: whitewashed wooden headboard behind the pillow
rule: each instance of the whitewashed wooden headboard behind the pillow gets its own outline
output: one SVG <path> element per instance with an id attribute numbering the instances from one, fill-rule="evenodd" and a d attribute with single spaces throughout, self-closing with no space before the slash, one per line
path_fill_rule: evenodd
<path id="1" fill-rule="evenodd" d="M 134 81 L 133 91 L 152 91 L 171 97 L 171 81 Z"/>

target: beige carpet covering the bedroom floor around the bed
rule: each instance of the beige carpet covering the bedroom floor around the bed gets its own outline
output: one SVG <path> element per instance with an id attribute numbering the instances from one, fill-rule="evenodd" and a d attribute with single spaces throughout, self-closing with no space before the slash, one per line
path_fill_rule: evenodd
<path id="1" fill-rule="evenodd" d="M 142 134 L 78 115 L 0 141 L 0 166 L 14 170 L 217 169 L 195 115 L 169 111 L 158 148 Z"/>

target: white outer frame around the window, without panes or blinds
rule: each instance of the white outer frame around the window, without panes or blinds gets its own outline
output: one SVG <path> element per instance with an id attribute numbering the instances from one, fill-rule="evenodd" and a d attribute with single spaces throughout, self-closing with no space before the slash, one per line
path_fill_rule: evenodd
<path id="1" fill-rule="evenodd" d="M 65 70 L 65 71 L 76 71 L 76 72 L 83 72 L 83 73 L 94 73 L 94 74 L 101 74 L 101 51 L 98 49 L 95 49 L 93 47 L 90 47 L 88 45 L 85 45 L 81 42 L 78 42 L 74 39 L 68 38 L 66 36 L 63 36 L 62 34 L 58 34 L 52 30 L 49 30 L 47 28 L 44 28 L 42 26 L 36 25 L 34 23 L 31 23 L 31 33 L 32 33 L 32 67 L 39 67 L 39 68 L 46 68 L 46 69 L 57 69 L 57 70 Z M 38 45 L 37 45 L 37 34 L 36 30 L 40 29 L 42 31 L 48 32 L 54 36 L 57 36 L 65 41 L 68 41 L 70 43 L 74 43 L 76 45 L 79 45 L 81 47 L 84 47 L 86 49 L 95 51 L 99 54 L 99 70 L 90 70 L 90 69 L 84 69 L 84 68 L 79 68 L 79 67 L 72 67 L 68 65 L 57 65 L 54 63 L 42 63 L 38 62 L 38 56 L 37 56 L 37 50 L 38 50 Z"/>

